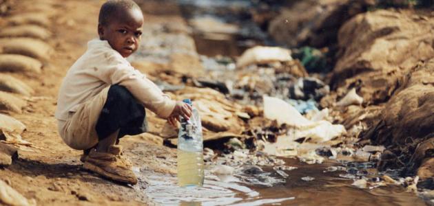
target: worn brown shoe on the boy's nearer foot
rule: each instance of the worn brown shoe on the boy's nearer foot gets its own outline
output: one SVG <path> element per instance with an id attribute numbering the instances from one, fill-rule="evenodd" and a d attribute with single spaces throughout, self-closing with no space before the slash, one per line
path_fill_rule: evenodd
<path id="1" fill-rule="evenodd" d="M 123 159 L 120 154 L 114 155 L 112 152 L 114 151 L 90 151 L 83 167 L 97 174 L 101 174 L 107 179 L 135 185 L 137 183 L 137 177 L 134 172 L 132 172 L 132 164 L 130 161 Z"/>

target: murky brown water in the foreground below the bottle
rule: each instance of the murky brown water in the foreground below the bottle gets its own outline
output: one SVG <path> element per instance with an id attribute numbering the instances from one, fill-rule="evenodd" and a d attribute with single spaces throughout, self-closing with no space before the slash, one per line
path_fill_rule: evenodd
<path id="1" fill-rule="evenodd" d="M 285 159 L 298 169 L 285 171 L 282 177 L 272 168 L 263 174 L 236 172 L 233 176 L 216 176 L 207 170 L 203 187 L 178 187 L 176 176 L 145 174 L 149 198 L 161 205 L 424 205 L 415 194 L 401 186 L 359 189 L 347 172 L 325 172 L 337 163 L 316 165 Z M 341 175 L 340 175 L 341 174 Z M 303 177 L 313 180 L 304 181 Z"/>

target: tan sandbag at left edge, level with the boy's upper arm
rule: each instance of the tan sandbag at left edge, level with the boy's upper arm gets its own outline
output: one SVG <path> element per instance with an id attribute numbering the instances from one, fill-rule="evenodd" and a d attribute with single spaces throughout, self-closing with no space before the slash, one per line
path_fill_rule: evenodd
<path id="1" fill-rule="evenodd" d="M 3 73 L 0 73 L 0 91 L 19 93 L 25 96 L 30 96 L 34 93 L 33 89 L 24 82 L 21 82 L 21 80 Z"/>

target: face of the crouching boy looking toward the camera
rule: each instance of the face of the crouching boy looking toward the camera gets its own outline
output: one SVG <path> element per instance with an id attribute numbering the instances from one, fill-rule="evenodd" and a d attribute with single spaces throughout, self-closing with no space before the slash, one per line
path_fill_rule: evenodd
<path id="1" fill-rule="evenodd" d="M 107 40 L 110 46 L 127 58 L 140 45 L 142 38 L 143 14 L 141 10 L 120 10 L 107 25 L 98 25 L 101 40 Z"/>

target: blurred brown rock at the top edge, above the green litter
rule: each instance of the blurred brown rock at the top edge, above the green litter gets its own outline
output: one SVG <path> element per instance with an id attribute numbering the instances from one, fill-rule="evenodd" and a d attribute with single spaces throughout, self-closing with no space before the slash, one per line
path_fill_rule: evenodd
<path id="1" fill-rule="evenodd" d="M 333 45 L 340 26 L 373 1 L 319 0 L 298 1 L 269 23 L 269 33 L 279 43 L 298 47 Z"/>

